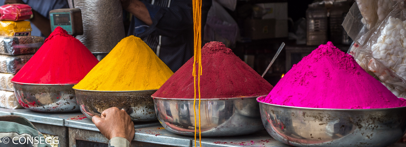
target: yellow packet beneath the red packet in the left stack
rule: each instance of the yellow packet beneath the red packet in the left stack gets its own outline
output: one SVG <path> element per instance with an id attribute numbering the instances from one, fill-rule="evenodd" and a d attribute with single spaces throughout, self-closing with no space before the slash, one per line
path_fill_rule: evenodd
<path id="1" fill-rule="evenodd" d="M 30 21 L 0 21 L 0 35 L 30 36 L 31 31 Z"/>

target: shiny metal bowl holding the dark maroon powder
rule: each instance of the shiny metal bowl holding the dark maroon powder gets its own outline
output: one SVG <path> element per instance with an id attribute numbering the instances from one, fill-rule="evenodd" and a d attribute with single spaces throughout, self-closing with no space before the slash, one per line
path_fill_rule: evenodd
<path id="1" fill-rule="evenodd" d="M 158 120 L 166 130 L 194 136 L 193 99 L 153 98 Z M 235 136 L 262 130 L 255 98 L 201 99 L 201 136 Z M 196 100 L 195 110 L 196 116 L 199 116 L 199 100 Z M 199 124 L 198 117 L 196 124 Z"/>

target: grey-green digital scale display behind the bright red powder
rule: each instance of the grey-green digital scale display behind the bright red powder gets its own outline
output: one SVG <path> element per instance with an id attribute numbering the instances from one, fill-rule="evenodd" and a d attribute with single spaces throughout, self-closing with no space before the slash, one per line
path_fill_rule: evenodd
<path id="1" fill-rule="evenodd" d="M 82 12 L 78 8 L 50 11 L 51 30 L 60 26 L 72 36 L 83 34 Z"/>

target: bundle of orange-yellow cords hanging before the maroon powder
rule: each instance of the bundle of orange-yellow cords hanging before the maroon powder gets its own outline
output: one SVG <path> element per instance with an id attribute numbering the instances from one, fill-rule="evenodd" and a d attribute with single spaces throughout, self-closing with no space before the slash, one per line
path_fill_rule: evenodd
<path id="1" fill-rule="evenodd" d="M 193 31 L 194 31 L 194 61 L 193 61 L 193 85 L 194 85 L 194 101 L 193 101 L 193 110 L 194 110 L 194 146 L 196 145 L 196 95 L 199 93 L 199 144 L 202 146 L 202 137 L 201 137 L 201 118 L 200 118 L 200 76 L 202 75 L 202 60 L 201 60 L 201 0 L 192 0 L 193 5 Z M 196 74 L 196 63 L 197 63 L 197 74 Z M 197 77 L 197 87 L 196 87 L 196 77 Z"/>

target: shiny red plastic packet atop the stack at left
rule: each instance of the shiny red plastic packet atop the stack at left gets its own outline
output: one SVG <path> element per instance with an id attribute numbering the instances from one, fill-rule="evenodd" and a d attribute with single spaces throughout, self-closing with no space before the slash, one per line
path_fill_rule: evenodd
<path id="1" fill-rule="evenodd" d="M 5 4 L 0 6 L 0 20 L 19 21 L 30 19 L 31 7 L 28 4 Z"/>

